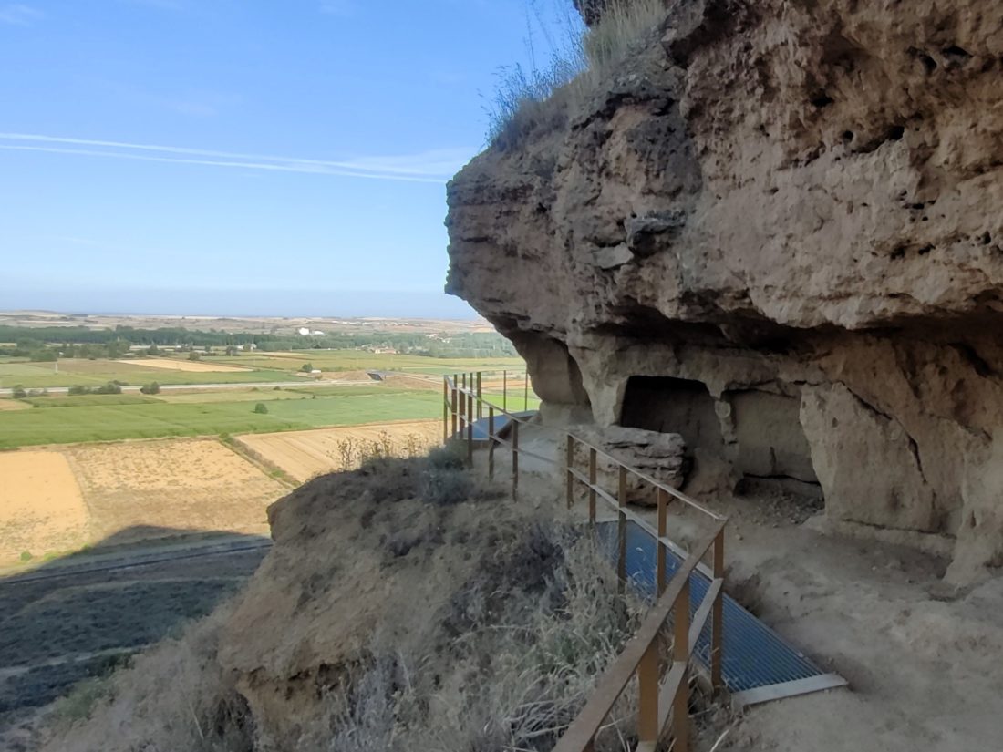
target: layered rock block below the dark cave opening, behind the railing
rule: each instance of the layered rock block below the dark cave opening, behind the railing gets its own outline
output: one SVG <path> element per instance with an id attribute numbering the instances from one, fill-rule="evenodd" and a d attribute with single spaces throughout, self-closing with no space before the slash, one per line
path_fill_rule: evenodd
<path id="1" fill-rule="evenodd" d="M 597 430 L 592 426 L 571 426 L 571 432 L 601 452 L 607 452 L 621 462 L 640 470 L 672 488 L 683 484 L 690 462 L 686 444 L 678 433 L 646 431 L 642 428 L 611 426 Z M 589 448 L 575 444 L 575 465 L 581 472 L 589 467 Z M 620 492 L 620 466 L 609 456 L 597 452 L 596 479 L 608 493 Z M 654 487 L 634 473 L 627 474 L 627 501 L 631 504 L 654 506 L 658 503 Z"/>

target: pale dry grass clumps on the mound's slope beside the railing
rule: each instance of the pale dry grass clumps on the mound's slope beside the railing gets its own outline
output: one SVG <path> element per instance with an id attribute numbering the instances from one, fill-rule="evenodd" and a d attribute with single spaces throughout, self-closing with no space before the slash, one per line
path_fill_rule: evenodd
<path id="1" fill-rule="evenodd" d="M 454 599 L 463 631 L 452 659 L 462 682 L 436 686 L 424 670 L 429 657 L 400 656 L 377 642 L 372 651 L 380 658 L 351 692 L 336 698 L 331 749 L 516 752 L 554 746 L 636 629 L 640 610 L 618 595 L 590 539 L 555 538 L 537 527 L 524 544 L 556 562 L 542 593 L 505 593 L 500 621 L 497 593 L 474 588 Z M 615 706 L 597 750 L 632 748 L 632 690 Z"/>

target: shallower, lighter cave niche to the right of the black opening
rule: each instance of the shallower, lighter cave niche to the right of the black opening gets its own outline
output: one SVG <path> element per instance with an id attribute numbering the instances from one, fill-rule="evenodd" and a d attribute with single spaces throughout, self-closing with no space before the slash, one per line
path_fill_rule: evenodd
<path id="1" fill-rule="evenodd" d="M 725 392 L 738 442 L 744 488 L 774 488 L 821 502 L 811 447 L 800 421 L 800 400 L 746 389 Z M 742 490 L 742 487 L 739 490 Z"/>

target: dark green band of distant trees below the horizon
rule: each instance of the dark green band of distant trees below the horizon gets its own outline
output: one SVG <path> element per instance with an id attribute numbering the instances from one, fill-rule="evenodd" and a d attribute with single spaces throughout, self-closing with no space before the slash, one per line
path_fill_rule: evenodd
<path id="1" fill-rule="evenodd" d="M 195 348 L 209 352 L 212 348 L 238 355 L 240 348 L 251 345 L 261 352 L 280 350 L 356 350 L 360 348 L 392 349 L 407 355 L 430 358 L 494 358 L 516 355 L 512 343 L 496 332 L 464 332 L 436 335 L 370 332 L 360 334 L 324 334 L 303 337 L 277 333 L 229 333 L 219 330 L 200 331 L 180 328 L 134 329 L 119 326 L 114 329 L 87 327 L 12 327 L 0 326 L 0 342 L 13 346 L 0 347 L 0 355 L 53 361 L 63 358 L 120 358 L 133 346 L 146 354 L 163 354 L 162 348 L 192 352 Z M 245 350 L 246 351 L 246 350 Z"/>

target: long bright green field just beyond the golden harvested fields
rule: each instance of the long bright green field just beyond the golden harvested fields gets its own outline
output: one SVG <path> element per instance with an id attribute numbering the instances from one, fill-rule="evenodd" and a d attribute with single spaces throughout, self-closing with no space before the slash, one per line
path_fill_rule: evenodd
<path id="1" fill-rule="evenodd" d="M 272 398 L 273 394 L 278 398 Z M 95 403 L 67 409 L 0 411 L 0 449 L 128 438 L 291 431 L 435 418 L 442 414 L 442 397 L 437 392 L 378 386 L 346 386 L 338 394 L 316 398 L 300 394 L 299 399 L 271 391 L 252 393 L 247 400 L 235 400 L 234 395 L 227 393 L 198 396 L 204 401 Z M 216 397 L 221 399 L 215 400 Z M 254 412 L 257 402 L 266 404 L 267 414 Z"/>

